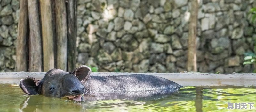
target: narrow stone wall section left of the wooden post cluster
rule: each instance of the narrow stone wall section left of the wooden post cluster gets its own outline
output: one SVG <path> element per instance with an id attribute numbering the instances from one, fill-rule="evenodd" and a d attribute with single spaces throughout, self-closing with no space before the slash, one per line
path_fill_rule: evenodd
<path id="1" fill-rule="evenodd" d="M 19 0 L 0 0 L 0 72 L 14 71 Z"/>

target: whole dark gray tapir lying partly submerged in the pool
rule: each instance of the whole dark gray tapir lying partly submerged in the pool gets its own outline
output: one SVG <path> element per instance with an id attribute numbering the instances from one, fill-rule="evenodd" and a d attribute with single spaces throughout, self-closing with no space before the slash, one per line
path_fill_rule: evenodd
<path id="1" fill-rule="evenodd" d="M 27 77 L 20 81 L 20 88 L 28 95 L 41 94 L 48 97 L 69 98 L 83 101 L 96 97 L 108 99 L 104 95 L 121 94 L 124 98 L 146 97 L 156 94 L 170 94 L 178 91 L 179 84 L 152 75 L 90 76 L 87 66 L 72 72 L 60 69 L 48 71 L 42 80 Z M 84 96 L 83 96 L 84 95 Z M 113 97 L 113 95 L 112 95 Z"/>

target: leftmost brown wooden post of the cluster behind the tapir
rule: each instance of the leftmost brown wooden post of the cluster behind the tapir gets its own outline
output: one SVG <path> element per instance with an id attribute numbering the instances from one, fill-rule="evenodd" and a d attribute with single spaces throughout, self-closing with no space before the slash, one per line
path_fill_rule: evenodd
<path id="1" fill-rule="evenodd" d="M 16 46 L 16 70 L 27 71 L 27 25 L 28 25 L 28 2 L 27 0 L 20 0 L 20 19 L 18 24 L 18 37 Z"/>

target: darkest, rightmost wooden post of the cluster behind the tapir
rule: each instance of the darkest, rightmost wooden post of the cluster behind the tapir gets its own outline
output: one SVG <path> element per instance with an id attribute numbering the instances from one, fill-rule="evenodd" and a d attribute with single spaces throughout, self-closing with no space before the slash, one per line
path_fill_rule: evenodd
<path id="1" fill-rule="evenodd" d="M 77 6 L 76 0 L 68 0 L 67 6 L 67 23 L 68 23 L 68 71 L 75 69 L 76 65 L 76 21 Z"/>

